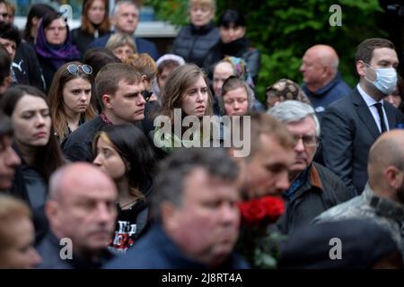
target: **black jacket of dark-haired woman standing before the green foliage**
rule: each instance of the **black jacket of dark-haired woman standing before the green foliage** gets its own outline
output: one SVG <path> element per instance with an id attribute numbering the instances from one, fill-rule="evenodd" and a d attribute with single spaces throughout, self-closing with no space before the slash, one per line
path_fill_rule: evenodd
<path id="1" fill-rule="evenodd" d="M 250 47 L 250 41 L 243 37 L 224 44 L 221 40 L 206 55 L 203 67 L 212 79 L 215 64 L 226 56 L 241 57 L 247 64 L 250 76 L 257 83 L 261 57 L 257 48 Z"/>

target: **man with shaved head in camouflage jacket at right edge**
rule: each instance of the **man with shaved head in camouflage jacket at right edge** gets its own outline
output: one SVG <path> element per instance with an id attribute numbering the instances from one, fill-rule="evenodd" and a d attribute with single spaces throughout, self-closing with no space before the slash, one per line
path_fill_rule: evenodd
<path id="1" fill-rule="evenodd" d="M 391 232 L 404 257 L 404 131 L 382 134 L 369 152 L 369 180 L 360 196 L 321 213 L 314 222 L 368 219 Z"/>

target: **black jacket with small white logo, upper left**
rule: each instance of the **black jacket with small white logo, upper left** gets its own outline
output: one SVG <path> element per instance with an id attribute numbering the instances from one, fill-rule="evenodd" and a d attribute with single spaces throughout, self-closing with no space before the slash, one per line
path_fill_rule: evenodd
<path id="1" fill-rule="evenodd" d="M 30 44 L 22 41 L 15 51 L 13 72 L 19 84 L 34 86 L 40 91 L 45 91 L 40 63 L 35 50 Z"/>

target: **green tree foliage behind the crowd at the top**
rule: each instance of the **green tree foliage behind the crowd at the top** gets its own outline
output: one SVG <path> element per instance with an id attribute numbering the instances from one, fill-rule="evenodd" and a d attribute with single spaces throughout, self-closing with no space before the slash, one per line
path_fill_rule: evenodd
<path id="1" fill-rule="evenodd" d="M 146 0 L 161 19 L 175 25 L 188 22 L 188 0 Z M 331 26 L 332 4 L 341 7 L 341 26 Z M 259 98 L 265 88 L 280 78 L 301 83 L 299 72 L 304 51 L 314 44 L 334 47 L 340 57 L 339 70 L 347 83 L 356 83 L 356 46 L 366 38 L 386 37 L 377 22 L 382 13 L 378 0 L 217 0 L 219 15 L 226 8 L 238 9 L 247 18 L 247 36 L 262 54 Z"/>

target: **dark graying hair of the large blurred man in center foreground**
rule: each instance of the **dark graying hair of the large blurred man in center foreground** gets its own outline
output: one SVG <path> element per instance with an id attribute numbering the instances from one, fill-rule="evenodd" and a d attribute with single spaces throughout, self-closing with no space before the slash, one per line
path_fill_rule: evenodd
<path id="1" fill-rule="evenodd" d="M 160 205 L 170 202 L 180 207 L 184 181 L 197 169 L 206 170 L 214 178 L 232 183 L 239 175 L 235 161 L 223 148 L 182 148 L 162 161 L 157 174 L 151 211 L 154 219 L 161 219 Z"/>

